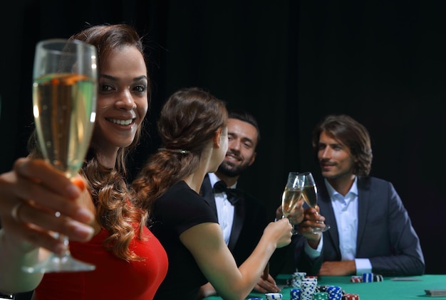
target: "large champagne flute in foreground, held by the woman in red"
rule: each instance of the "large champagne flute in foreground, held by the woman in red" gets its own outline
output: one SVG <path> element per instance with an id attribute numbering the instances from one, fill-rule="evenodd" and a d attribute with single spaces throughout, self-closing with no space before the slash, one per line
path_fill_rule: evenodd
<path id="1" fill-rule="evenodd" d="M 98 75 L 97 52 L 82 41 L 50 39 L 36 45 L 33 67 L 33 115 L 43 158 L 68 178 L 83 165 L 95 121 Z M 56 212 L 56 215 L 60 213 Z M 51 254 L 33 267 L 34 272 L 74 272 L 95 269 L 71 256 L 68 238 L 63 255 Z"/>

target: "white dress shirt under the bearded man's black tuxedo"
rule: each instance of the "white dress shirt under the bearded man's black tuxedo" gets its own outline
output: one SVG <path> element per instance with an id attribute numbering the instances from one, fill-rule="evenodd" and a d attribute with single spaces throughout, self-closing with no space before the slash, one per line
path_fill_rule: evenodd
<path id="1" fill-rule="evenodd" d="M 221 179 L 215 175 L 215 173 L 209 173 L 209 180 L 211 186 Z M 228 188 L 236 188 L 237 183 L 234 186 L 228 186 Z M 232 223 L 234 223 L 234 205 L 232 205 L 226 193 L 214 193 L 215 206 L 217 207 L 217 218 L 220 227 L 222 227 L 224 242 L 229 244 L 229 237 L 231 237 Z"/>

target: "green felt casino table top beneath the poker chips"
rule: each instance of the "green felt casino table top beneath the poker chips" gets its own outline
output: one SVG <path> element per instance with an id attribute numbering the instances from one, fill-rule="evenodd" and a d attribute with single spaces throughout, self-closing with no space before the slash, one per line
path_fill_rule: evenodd
<path id="1" fill-rule="evenodd" d="M 280 274 L 276 278 L 278 286 L 283 286 L 291 274 Z M 341 286 L 348 294 L 358 294 L 360 300 L 399 300 L 399 299 L 446 299 L 446 296 L 429 296 L 425 289 L 446 289 L 446 275 L 422 275 L 416 277 L 384 277 L 383 282 L 351 282 L 351 277 L 319 277 L 318 285 Z M 284 286 L 283 300 L 290 299 L 289 286 Z M 264 294 L 251 293 L 246 299 L 262 298 Z M 205 300 L 222 300 L 219 296 L 209 296 Z"/>

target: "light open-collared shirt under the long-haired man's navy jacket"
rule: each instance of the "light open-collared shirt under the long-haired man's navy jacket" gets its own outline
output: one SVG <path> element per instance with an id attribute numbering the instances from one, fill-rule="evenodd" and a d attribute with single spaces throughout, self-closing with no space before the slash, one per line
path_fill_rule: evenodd
<path id="1" fill-rule="evenodd" d="M 339 250 L 341 251 L 341 261 L 355 260 L 356 274 L 372 272 L 370 259 L 356 258 L 356 240 L 358 237 L 358 178 L 355 178 L 350 191 L 345 197 L 338 193 L 325 179 L 328 195 L 330 195 L 331 206 L 338 225 Z M 309 257 L 316 259 L 321 255 L 323 238 L 319 242 L 318 248 L 314 250 L 305 243 L 305 251 Z"/>

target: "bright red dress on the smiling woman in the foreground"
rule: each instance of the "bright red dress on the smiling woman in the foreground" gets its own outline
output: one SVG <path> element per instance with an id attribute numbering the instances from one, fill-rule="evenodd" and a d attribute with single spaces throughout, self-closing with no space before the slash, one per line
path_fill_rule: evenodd
<path id="1" fill-rule="evenodd" d="M 147 240 L 134 239 L 130 245 L 144 261 L 118 259 L 102 245 L 104 228 L 87 243 L 71 242 L 73 257 L 95 264 L 91 272 L 48 273 L 35 291 L 42 299 L 152 299 L 167 273 L 167 255 L 152 232 L 144 228 Z"/>

